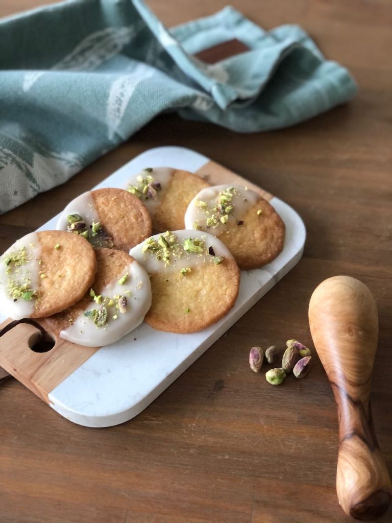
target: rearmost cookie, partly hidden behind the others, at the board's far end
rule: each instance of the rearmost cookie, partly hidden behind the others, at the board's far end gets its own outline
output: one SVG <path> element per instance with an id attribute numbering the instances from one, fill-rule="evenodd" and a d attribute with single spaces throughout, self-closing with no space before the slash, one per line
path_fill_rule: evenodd
<path id="1" fill-rule="evenodd" d="M 145 204 L 153 219 L 153 230 L 158 233 L 183 229 L 190 201 L 209 186 L 203 178 L 187 170 L 147 167 L 130 178 L 124 189 Z"/>

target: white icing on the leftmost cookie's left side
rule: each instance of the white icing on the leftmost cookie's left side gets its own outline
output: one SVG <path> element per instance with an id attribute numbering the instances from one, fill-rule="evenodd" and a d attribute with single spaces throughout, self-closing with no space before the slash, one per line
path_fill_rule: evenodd
<path id="1" fill-rule="evenodd" d="M 25 254 L 20 256 L 22 249 Z M 13 261 L 10 258 L 19 253 L 19 261 L 26 260 L 25 263 L 18 265 L 19 261 Z M 0 308 L 2 312 L 13 320 L 20 320 L 31 316 L 37 298 L 39 298 L 39 260 L 41 256 L 41 246 L 38 234 L 33 232 L 17 240 L 7 251 L 0 257 Z M 22 289 L 25 291 L 36 291 L 36 297 L 32 296 L 30 300 L 19 297 L 14 301 L 10 293 L 12 289 Z M 25 293 L 25 292 L 24 292 Z M 26 294 L 28 297 L 29 294 Z"/>

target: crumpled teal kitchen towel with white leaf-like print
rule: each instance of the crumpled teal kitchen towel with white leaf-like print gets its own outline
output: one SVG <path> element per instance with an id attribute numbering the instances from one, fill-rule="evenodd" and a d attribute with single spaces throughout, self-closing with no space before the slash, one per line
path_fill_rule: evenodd
<path id="1" fill-rule="evenodd" d="M 215 63 L 206 48 L 241 42 Z M 350 73 L 295 25 L 232 7 L 166 29 L 141 0 L 68 0 L 0 21 L 0 213 L 59 185 L 156 115 L 237 132 L 292 126 L 349 100 Z"/>

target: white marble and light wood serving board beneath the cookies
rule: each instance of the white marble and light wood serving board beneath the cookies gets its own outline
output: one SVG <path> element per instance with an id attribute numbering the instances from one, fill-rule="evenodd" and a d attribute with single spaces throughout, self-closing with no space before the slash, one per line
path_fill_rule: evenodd
<path id="1" fill-rule="evenodd" d="M 53 335 L 55 345 L 45 353 L 31 350 L 37 333 L 31 325 L 17 325 L 1 337 L 0 366 L 56 412 L 79 425 L 108 427 L 123 423 L 143 411 L 294 267 L 303 253 L 305 226 L 291 207 L 189 149 L 157 147 L 148 150 L 95 188 L 122 187 L 140 170 L 163 166 L 189 170 L 205 177 L 212 185 L 245 185 L 259 192 L 285 222 L 284 248 L 272 263 L 261 269 L 242 271 L 234 308 L 216 324 L 198 333 L 159 332 L 143 323 L 119 342 L 101 348 L 75 345 Z M 39 230 L 54 229 L 57 218 Z M 0 322 L 3 322 L 0 328 L 9 321 L 0 316 Z M 42 324 L 50 333 L 50 328 L 44 322 Z"/>

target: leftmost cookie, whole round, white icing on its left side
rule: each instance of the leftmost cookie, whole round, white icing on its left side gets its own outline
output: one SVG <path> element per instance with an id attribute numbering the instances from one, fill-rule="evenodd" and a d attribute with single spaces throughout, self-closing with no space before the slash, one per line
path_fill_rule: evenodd
<path id="1" fill-rule="evenodd" d="M 14 320 L 54 314 L 76 303 L 94 281 L 94 249 L 77 234 L 27 234 L 0 258 L 0 307 Z"/>

